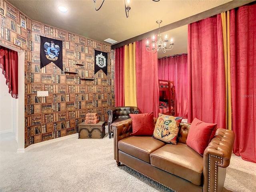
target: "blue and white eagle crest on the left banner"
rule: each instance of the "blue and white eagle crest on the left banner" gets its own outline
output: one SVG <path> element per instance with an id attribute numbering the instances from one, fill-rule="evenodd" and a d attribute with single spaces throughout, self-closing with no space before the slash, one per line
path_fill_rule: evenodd
<path id="1" fill-rule="evenodd" d="M 44 52 L 48 60 L 56 61 L 58 60 L 58 55 L 60 54 L 60 46 L 55 45 L 53 41 L 44 43 Z"/>

